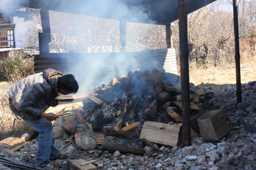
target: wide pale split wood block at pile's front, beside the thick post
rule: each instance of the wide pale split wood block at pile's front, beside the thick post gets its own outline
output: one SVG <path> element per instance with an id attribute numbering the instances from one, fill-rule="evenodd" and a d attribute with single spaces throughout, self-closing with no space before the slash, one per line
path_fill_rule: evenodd
<path id="1" fill-rule="evenodd" d="M 145 121 L 140 138 L 165 146 L 177 146 L 180 126 L 159 122 Z"/>

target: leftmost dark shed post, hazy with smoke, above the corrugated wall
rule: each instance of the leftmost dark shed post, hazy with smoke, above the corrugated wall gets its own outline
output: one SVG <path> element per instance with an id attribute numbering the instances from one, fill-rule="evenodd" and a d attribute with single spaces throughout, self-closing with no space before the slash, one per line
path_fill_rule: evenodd
<path id="1" fill-rule="evenodd" d="M 41 9 L 40 15 L 43 32 L 38 33 L 39 53 L 45 55 L 49 53 L 49 43 L 51 41 L 49 10 Z"/>

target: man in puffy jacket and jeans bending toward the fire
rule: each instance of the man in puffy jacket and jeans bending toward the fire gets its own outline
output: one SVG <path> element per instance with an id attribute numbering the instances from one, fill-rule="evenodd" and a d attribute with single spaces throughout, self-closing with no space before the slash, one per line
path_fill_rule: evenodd
<path id="1" fill-rule="evenodd" d="M 78 83 L 74 75 L 63 75 L 52 68 L 20 80 L 9 90 L 11 111 L 39 133 L 36 167 L 47 169 L 49 160 L 67 156 L 54 146 L 53 126 L 50 121 L 59 116 L 45 113 L 45 110 L 59 104 L 56 99 L 59 93 L 67 95 L 77 91 Z"/>

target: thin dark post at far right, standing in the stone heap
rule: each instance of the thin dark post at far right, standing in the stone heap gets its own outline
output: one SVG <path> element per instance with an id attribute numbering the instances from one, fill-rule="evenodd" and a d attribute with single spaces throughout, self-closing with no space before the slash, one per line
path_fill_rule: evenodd
<path id="1" fill-rule="evenodd" d="M 237 103 L 242 102 L 237 0 L 233 0 Z"/>

